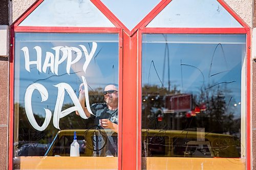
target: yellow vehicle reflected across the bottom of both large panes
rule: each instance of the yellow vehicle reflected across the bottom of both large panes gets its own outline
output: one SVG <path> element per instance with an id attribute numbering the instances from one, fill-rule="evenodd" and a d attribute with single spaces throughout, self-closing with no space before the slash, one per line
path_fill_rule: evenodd
<path id="1" fill-rule="evenodd" d="M 74 131 L 77 133 L 77 141 L 80 144 L 80 156 L 92 156 L 95 148 L 93 136 L 104 134 L 101 133 L 101 130 L 60 130 L 45 156 L 69 156 Z M 240 157 L 238 151 L 240 141 L 237 137 L 231 135 L 196 131 L 142 129 L 141 138 L 142 156 Z"/>

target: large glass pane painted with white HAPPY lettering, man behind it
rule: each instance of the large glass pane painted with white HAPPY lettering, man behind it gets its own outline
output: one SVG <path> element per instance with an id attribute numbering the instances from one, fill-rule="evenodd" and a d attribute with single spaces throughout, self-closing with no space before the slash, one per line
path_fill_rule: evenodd
<path id="1" fill-rule="evenodd" d="M 117 169 L 118 34 L 16 33 L 14 65 L 14 169 Z"/>

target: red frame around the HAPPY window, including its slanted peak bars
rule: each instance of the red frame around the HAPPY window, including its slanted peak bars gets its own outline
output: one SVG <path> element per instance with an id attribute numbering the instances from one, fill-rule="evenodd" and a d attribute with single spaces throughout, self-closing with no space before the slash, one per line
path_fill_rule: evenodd
<path id="1" fill-rule="evenodd" d="M 122 134 L 122 89 L 123 89 L 123 30 L 127 28 L 115 17 L 115 15 L 108 10 L 100 1 L 92 0 L 92 3 L 114 24 L 115 28 L 109 27 L 27 27 L 18 26 L 28 15 L 30 15 L 44 0 L 36 1 L 22 16 L 20 16 L 10 26 L 10 62 L 9 62 L 9 154 L 8 154 L 8 169 L 13 168 L 13 131 L 14 131 L 14 44 L 15 33 L 31 32 L 31 33 L 118 33 L 119 37 L 119 124 L 118 131 Z M 122 135 L 118 135 L 118 169 L 121 169 L 121 155 L 122 155 Z"/>

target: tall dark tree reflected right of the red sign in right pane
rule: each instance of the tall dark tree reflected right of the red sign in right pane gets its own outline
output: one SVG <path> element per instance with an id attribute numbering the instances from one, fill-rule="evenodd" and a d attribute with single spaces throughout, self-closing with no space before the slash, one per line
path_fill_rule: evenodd
<path id="1" fill-rule="evenodd" d="M 194 95 L 194 103 L 204 103 L 206 110 L 197 115 L 197 127 L 205 128 L 208 132 L 215 133 L 238 133 L 240 129 L 240 118 L 235 119 L 229 102 L 232 98 L 225 86 L 217 86 L 211 90 L 201 90 L 199 98 Z"/>

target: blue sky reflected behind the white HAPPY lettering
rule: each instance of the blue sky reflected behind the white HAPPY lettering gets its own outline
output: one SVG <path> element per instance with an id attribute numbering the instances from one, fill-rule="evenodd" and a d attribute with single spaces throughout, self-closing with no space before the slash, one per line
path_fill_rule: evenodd
<path id="1" fill-rule="evenodd" d="M 27 38 L 25 38 L 27 37 Z M 16 34 L 15 40 L 15 102 L 19 102 L 24 106 L 24 97 L 27 87 L 36 82 L 44 85 L 49 93 L 47 101 L 41 103 L 41 97 L 37 90 L 32 95 L 32 109 L 36 114 L 45 114 L 43 108 L 54 110 L 57 99 L 58 83 L 68 83 L 75 93 L 78 95 L 79 85 L 82 83 L 81 76 L 84 76 L 82 66 L 86 61 L 82 53 L 81 59 L 72 65 L 70 75 L 67 74 L 67 59 L 58 67 L 58 75 L 52 74 L 47 68 L 46 74 L 39 72 L 36 65 L 30 65 L 30 72 L 25 69 L 24 53 L 20 49 L 24 46 L 29 48 L 30 61 L 36 60 L 35 46 L 42 48 L 42 65 L 45 61 L 46 52 L 55 55 L 55 51 L 51 49 L 55 46 L 74 46 L 79 45 L 87 47 L 90 54 L 92 42 L 97 42 L 97 50 L 87 68 L 85 75 L 88 85 L 94 90 L 96 88 L 104 88 L 106 84 L 118 84 L 118 35 L 117 34 Z M 72 52 L 74 53 L 74 52 Z M 62 53 L 61 53 L 62 54 Z M 60 58 L 62 56 L 60 55 Z M 72 55 L 72 60 L 76 55 Z M 19 81 L 19 82 L 18 82 Z M 90 90 L 90 88 L 89 88 Z M 65 94 L 65 103 L 72 103 L 68 93 Z"/>

